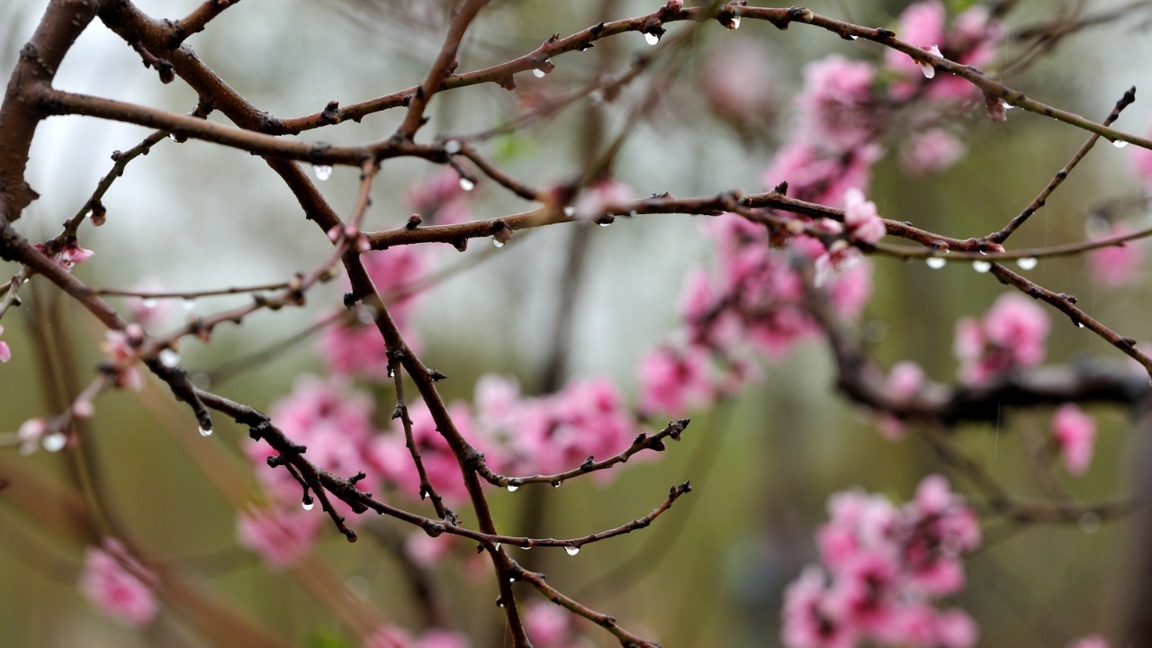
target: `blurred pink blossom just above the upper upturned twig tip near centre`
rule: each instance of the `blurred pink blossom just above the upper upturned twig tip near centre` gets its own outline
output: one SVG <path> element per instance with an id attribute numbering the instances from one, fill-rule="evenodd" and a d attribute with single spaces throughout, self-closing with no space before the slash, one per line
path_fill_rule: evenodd
<path id="1" fill-rule="evenodd" d="M 641 409 L 670 416 L 706 404 L 713 397 L 708 377 L 708 352 L 698 346 L 684 351 L 659 347 L 641 359 Z"/>

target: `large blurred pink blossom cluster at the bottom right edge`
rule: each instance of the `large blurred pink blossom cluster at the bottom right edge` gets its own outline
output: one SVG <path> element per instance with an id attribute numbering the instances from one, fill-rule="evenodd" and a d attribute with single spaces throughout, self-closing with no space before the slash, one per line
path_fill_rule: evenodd
<path id="1" fill-rule="evenodd" d="M 925 477 L 902 508 L 862 491 L 834 495 L 828 508 L 817 534 L 823 566 L 806 567 L 785 593 L 785 646 L 976 645 L 971 617 L 933 606 L 964 587 L 961 559 L 980 544 L 976 515 L 942 476 Z"/>

